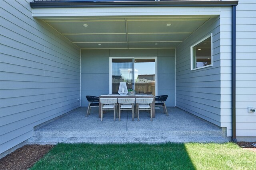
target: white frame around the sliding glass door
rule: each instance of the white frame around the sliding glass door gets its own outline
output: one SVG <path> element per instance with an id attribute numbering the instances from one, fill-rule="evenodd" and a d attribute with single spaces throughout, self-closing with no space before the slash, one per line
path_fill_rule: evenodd
<path id="1" fill-rule="evenodd" d="M 155 59 L 156 64 L 156 96 L 158 95 L 158 75 L 157 75 L 157 57 L 109 57 L 109 94 L 112 94 L 112 59 L 133 59 L 133 68 L 134 68 L 134 59 Z M 133 75 L 134 76 L 134 75 Z M 133 78 L 134 79 L 134 78 Z"/>

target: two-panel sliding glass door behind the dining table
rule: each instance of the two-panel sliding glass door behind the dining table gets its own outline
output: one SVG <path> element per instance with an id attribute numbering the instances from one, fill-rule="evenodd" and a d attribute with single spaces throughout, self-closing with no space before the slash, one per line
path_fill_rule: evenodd
<path id="1" fill-rule="evenodd" d="M 128 89 L 136 93 L 156 95 L 156 58 L 112 58 L 112 94 L 118 94 L 120 82 L 126 82 Z"/>

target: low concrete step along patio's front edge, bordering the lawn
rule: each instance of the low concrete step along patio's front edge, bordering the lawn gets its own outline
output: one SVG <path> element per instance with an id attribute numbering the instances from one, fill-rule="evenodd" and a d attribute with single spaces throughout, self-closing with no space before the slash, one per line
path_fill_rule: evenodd
<path id="1" fill-rule="evenodd" d="M 56 143 L 225 143 L 221 131 L 35 131 L 27 144 Z"/>

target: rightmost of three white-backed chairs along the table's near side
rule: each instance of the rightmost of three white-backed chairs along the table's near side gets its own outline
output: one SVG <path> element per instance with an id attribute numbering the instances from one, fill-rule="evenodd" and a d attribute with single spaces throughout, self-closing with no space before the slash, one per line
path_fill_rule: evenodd
<path id="1" fill-rule="evenodd" d="M 136 115 L 139 119 L 139 110 L 149 110 L 150 111 L 150 120 L 152 121 L 152 102 L 153 98 L 136 98 Z"/>

